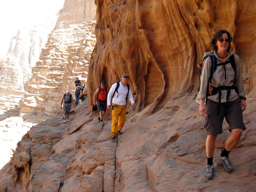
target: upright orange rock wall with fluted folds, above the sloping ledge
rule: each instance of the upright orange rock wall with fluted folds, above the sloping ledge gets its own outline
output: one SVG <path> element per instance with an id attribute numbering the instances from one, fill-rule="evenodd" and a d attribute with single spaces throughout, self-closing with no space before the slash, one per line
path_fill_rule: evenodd
<path id="1" fill-rule="evenodd" d="M 240 56 L 246 93 L 254 89 L 255 16 L 251 1 L 95 1 L 97 46 L 88 76 L 91 96 L 102 79 L 110 87 L 123 74 L 136 111 L 158 111 L 173 98 L 195 94 L 198 68 L 213 33 L 228 30 Z M 92 100 L 91 100 L 92 105 Z"/>

